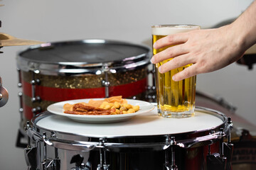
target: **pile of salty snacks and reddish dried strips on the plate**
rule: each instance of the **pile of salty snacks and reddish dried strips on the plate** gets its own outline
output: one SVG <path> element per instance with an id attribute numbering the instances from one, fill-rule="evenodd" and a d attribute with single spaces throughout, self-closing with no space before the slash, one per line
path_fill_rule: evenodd
<path id="1" fill-rule="evenodd" d="M 113 96 L 104 100 L 90 100 L 88 103 L 65 103 L 64 113 L 75 115 L 119 115 L 135 113 L 139 106 L 132 106 L 122 96 Z"/>

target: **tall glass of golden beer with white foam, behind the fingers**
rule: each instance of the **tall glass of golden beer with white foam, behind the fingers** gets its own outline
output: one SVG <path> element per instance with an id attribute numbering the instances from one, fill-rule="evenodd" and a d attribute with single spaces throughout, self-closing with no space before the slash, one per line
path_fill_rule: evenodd
<path id="1" fill-rule="evenodd" d="M 164 38 L 166 35 L 183 33 L 190 30 L 198 30 L 200 26 L 193 25 L 159 25 L 152 26 L 153 44 L 156 40 Z M 171 47 L 171 46 L 169 46 Z M 154 49 L 153 55 L 166 50 L 168 47 Z M 187 64 L 178 69 L 172 69 L 164 74 L 159 73 L 158 68 L 169 62 L 171 59 L 164 60 L 155 64 L 156 70 L 156 100 L 158 114 L 164 118 L 186 118 L 194 115 L 196 97 L 196 76 L 181 81 L 173 81 L 174 74 L 181 72 L 192 64 Z"/>

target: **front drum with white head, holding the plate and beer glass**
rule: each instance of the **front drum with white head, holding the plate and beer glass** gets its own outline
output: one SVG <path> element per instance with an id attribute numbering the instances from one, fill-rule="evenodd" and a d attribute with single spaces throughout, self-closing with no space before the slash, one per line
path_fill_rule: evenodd
<path id="1" fill-rule="evenodd" d="M 230 153 L 223 148 L 223 138 L 232 124 L 223 113 L 208 108 L 196 108 L 195 116 L 183 119 L 161 118 L 155 108 L 106 124 L 79 123 L 46 111 L 31 122 L 26 128 L 28 169 L 228 167 Z"/>

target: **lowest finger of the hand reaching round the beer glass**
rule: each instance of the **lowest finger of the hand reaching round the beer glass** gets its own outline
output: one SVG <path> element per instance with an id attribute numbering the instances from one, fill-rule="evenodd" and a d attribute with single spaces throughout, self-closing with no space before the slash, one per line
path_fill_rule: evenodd
<path id="1" fill-rule="evenodd" d="M 183 79 L 187 79 L 189 77 L 193 77 L 196 74 L 198 74 L 198 72 L 196 72 L 196 64 L 191 65 L 190 67 L 187 67 L 186 69 L 183 69 L 183 71 L 178 72 L 177 74 L 175 74 L 172 79 L 174 81 L 181 81 Z"/>

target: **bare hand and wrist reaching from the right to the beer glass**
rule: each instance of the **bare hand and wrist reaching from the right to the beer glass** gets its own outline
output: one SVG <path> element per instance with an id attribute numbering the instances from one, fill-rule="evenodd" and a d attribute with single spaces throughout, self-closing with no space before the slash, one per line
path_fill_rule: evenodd
<path id="1" fill-rule="evenodd" d="M 157 53 L 152 57 L 151 62 L 155 64 L 173 58 L 159 67 L 161 73 L 193 63 L 191 67 L 174 75 L 174 81 L 179 81 L 228 66 L 239 60 L 255 42 L 256 1 L 228 26 L 193 30 L 161 38 L 154 43 L 155 49 L 168 45 L 175 46 Z"/>

